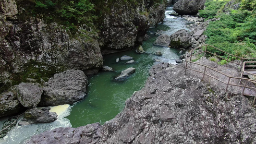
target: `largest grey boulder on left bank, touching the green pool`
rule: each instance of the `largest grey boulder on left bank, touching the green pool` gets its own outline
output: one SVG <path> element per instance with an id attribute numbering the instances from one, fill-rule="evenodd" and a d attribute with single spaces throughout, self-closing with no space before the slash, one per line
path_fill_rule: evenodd
<path id="1" fill-rule="evenodd" d="M 85 97 L 87 77 L 80 70 L 68 70 L 54 74 L 43 88 L 40 106 L 73 104 Z"/>

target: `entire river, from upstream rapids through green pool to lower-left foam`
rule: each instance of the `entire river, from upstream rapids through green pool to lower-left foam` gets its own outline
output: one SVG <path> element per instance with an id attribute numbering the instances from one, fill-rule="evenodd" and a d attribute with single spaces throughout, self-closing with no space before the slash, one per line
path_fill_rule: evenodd
<path id="1" fill-rule="evenodd" d="M 25 140 L 32 135 L 57 127 L 79 127 L 95 122 L 104 124 L 107 120 L 113 119 L 124 108 L 125 100 L 131 97 L 134 91 L 138 91 L 144 86 L 148 71 L 152 65 L 157 63 L 156 60 L 176 64 L 175 60 L 181 55 L 179 52 L 182 49 L 153 45 L 157 37 L 154 33 L 158 30 L 169 36 L 180 29 L 188 30 L 186 27 L 188 22 L 182 17 L 169 15 L 171 12 L 173 12 L 172 7 L 168 7 L 163 23 L 148 30 L 147 35 L 150 36 L 150 39 L 144 41 L 142 45 L 146 53 L 137 54 L 133 49 L 103 56 L 103 65 L 112 67 L 114 72 L 99 72 L 97 75 L 89 77 L 88 94 L 84 100 L 73 105 L 51 107 L 50 111 L 55 111 L 58 114 L 58 120 L 52 123 L 28 126 L 16 125 L 2 140 L 0 139 L 0 144 L 24 144 Z M 163 55 L 154 55 L 157 51 L 160 51 Z M 135 62 L 132 64 L 126 64 L 127 60 L 116 62 L 116 58 L 123 55 L 133 57 Z M 136 69 L 132 75 L 125 81 L 113 81 L 117 75 L 129 67 Z M 7 118 L 0 119 L 0 129 L 5 120 Z"/>

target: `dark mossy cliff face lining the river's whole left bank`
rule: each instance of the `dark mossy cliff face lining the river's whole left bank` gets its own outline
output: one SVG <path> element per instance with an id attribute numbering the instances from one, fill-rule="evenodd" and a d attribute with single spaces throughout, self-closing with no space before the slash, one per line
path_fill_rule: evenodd
<path id="1" fill-rule="evenodd" d="M 73 34 L 66 26 L 46 21 L 42 15 L 29 16 L 22 0 L 0 1 L 2 90 L 22 81 L 40 83 L 42 73 L 47 73 L 48 78 L 67 69 L 95 74 L 103 63 L 101 51 L 134 48 L 142 42 L 149 26 L 163 19 L 166 8 L 165 0 L 102 1 L 104 6 L 97 8 L 102 19 L 95 22 L 98 36 L 89 24 L 80 24 Z"/>

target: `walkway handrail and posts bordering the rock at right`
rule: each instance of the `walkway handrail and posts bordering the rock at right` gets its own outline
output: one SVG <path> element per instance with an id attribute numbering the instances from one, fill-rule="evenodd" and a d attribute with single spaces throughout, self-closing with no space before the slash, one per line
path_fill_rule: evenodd
<path id="1" fill-rule="evenodd" d="M 254 90 L 256 91 L 256 87 L 247 86 L 247 82 L 251 82 L 251 83 L 253 83 L 253 84 L 256 84 L 256 80 L 247 79 L 247 78 L 243 78 L 243 77 L 242 77 L 242 76 L 243 76 L 243 73 L 246 72 L 246 70 L 244 71 L 245 63 L 256 63 L 256 61 L 244 61 L 244 60 L 256 60 L 256 58 L 241 58 L 241 57 L 238 57 L 238 56 L 234 56 L 234 55 L 232 55 L 232 54 L 229 54 L 229 53 L 227 53 L 227 52 L 225 52 L 225 51 L 223 51 L 223 50 L 220 50 L 219 48 L 215 48 L 215 49 L 217 49 L 217 50 L 219 50 L 219 51 L 221 51 L 221 52 L 223 52 L 223 53 L 225 53 L 225 54 L 228 55 L 228 59 L 224 59 L 224 58 L 222 58 L 222 57 L 220 57 L 220 56 L 218 56 L 218 55 L 216 55 L 216 54 L 214 54 L 214 53 L 211 53 L 211 52 L 207 51 L 207 46 L 212 47 L 212 48 L 215 48 L 215 47 L 213 47 L 213 46 L 211 46 L 211 45 L 205 44 L 205 45 L 203 45 L 203 46 L 200 46 L 200 47 L 197 47 L 197 48 L 192 49 L 191 51 L 189 51 L 189 52 L 186 54 L 186 57 L 185 57 L 185 74 L 186 74 L 186 70 L 187 70 L 187 69 L 188 69 L 188 70 L 195 71 L 195 72 L 202 73 L 202 74 L 203 74 L 202 80 L 204 79 L 205 75 L 207 75 L 207 76 L 209 76 L 209 77 L 211 77 L 211 78 L 213 78 L 213 79 L 215 79 L 215 80 L 218 80 L 218 81 L 221 82 L 221 83 L 226 84 L 226 85 L 227 85 L 227 86 L 226 86 L 226 91 L 228 90 L 229 85 L 241 87 L 241 88 L 243 89 L 243 91 L 242 91 L 242 94 L 243 94 L 243 95 L 244 95 L 244 91 L 245 91 L 246 88 L 247 88 L 247 89 L 254 89 Z M 193 54 L 193 51 L 195 51 L 196 49 L 199 49 L 199 48 L 203 48 L 203 47 L 206 47 L 205 50 Z M 243 68 L 243 69 L 242 69 L 242 73 L 241 73 L 241 77 L 229 76 L 229 75 L 227 75 L 227 74 L 225 74 L 225 73 L 223 73 L 223 72 L 219 72 L 218 70 L 215 70 L 215 69 L 213 69 L 213 68 L 211 68 L 211 67 L 208 67 L 208 66 L 206 66 L 206 65 L 204 65 L 204 64 L 200 64 L 200 63 L 196 63 L 196 62 L 191 61 L 193 56 L 198 55 L 198 54 L 201 54 L 201 53 L 204 53 L 204 55 L 206 55 L 206 53 L 209 53 L 209 54 L 214 55 L 214 56 L 217 56 L 217 57 L 219 57 L 219 58 L 221 58 L 221 59 L 223 59 L 223 60 L 227 60 L 227 63 L 228 63 L 228 62 L 232 62 L 232 63 L 238 64 L 238 65 L 241 65 L 241 67 Z M 236 58 L 240 59 L 240 60 L 241 60 L 241 63 L 237 63 L 237 62 L 230 61 L 230 60 L 229 60 L 230 56 L 236 57 Z M 198 71 L 198 70 L 195 70 L 195 69 L 192 69 L 192 68 L 188 68 L 188 62 L 190 62 L 190 63 L 192 63 L 192 64 L 196 64 L 196 65 L 203 66 L 203 67 L 204 67 L 204 72 L 201 72 L 201 71 Z M 252 66 L 255 66 L 255 65 L 252 65 Z M 252 66 L 251 66 L 251 67 L 252 67 Z M 250 67 L 250 66 L 246 66 L 246 67 Z M 212 75 L 210 75 L 210 74 L 207 74 L 207 73 L 206 73 L 206 70 L 207 70 L 207 69 L 209 69 L 209 70 L 211 70 L 211 71 L 218 72 L 218 73 L 220 73 L 220 74 L 226 76 L 226 77 L 228 78 L 228 82 L 224 82 L 224 81 L 219 80 L 218 78 L 216 78 L 216 77 L 214 77 L 214 76 L 212 76 Z M 253 73 L 251 73 L 251 72 L 246 72 L 246 73 L 255 75 L 255 74 L 253 74 Z M 256 76 L 256 75 L 255 75 L 255 76 Z M 230 83 L 230 80 L 231 80 L 231 79 L 239 79 L 239 85 L 237 85 L 237 84 L 231 84 L 231 83 Z M 244 84 L 244 85 L 240 85 L 241 80 L 244 80 L 244 81 L 245 81 L 245 84 Z M 256 101 L 256 94 L 255 94 L 254 101 L 253 101 L 253 103 L 252 103 L 253 106 L 254 106 L 255 101 Z"/>

